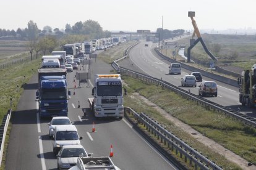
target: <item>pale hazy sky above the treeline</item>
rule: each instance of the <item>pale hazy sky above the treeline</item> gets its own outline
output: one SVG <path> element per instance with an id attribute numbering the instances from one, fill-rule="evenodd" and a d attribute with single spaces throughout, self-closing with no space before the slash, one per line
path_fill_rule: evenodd
<path id="1" fill-rule="evenodd" d="M 0 28 L 15 31 L 33 20 L 39 29 L 95 20 L 103 30 L 192 30 L 187 12 L 195 11 L 200 29 L 256 29 L 255 0 L 1 0 Z"/>

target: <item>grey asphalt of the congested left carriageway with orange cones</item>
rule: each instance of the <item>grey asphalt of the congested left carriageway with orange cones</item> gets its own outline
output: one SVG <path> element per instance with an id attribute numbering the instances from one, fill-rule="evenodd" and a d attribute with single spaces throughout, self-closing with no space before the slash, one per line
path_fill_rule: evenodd
<path id="1" fill-rule="evenodd" d="M 92 75 L 110 73 L 113 70 L 110 65 L 100 60 L 95 62 L 94 59 L 90 68 Z M 87 70 L 88 67 L 84 69 Z M 77 127 L 79 136 L 83 137 L 80 142 L 87 153 L 108 156 L 110 146 L 113 145 L 114 157 L 111 159 L 121 169 L 177 169 L 140 137 L 126 119 L 96 120 L 88 111 L 87 98 L 92 96 L 92 84 L 82 83 L 79 87 L 79 84 L 74 83 L 75 72 L 67 74 L 72 94 L 68 116 Z M 39 119 L 38 102 L 35 100 L 36 87 L 35 74 L 25 85 L 17 111 L 12 115 L 6 169 L 57 169 L 53 140 L 48 137 L 47 123 L 50 119 Z M 93 122 L 96 132 L 92 132 Z"/>

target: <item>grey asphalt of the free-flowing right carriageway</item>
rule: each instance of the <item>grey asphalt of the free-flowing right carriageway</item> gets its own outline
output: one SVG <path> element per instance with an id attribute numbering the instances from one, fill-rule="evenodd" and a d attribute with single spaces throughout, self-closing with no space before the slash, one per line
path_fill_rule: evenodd
<path id="1" fill-rule="evenodd" d="M 175 39 L 174 39 L 175 40 Z M 145 47 L 145 44 L 148 44 L 148 47 Z M 182 87 L 181 86 L 181 78 L 184 75 L 189 75 L 192 71 L 185 70 L 183 68 L 181 71 L 181 75 L 169 75 L 169 64 L 167 60 L 162 59 L 156 54 L 153 50 L 156 44 L 152 42 L 141 41 L 137 46 L 132 48 L 130 51 L 130 63 L 132 63 L 133 67 L 137 67 L 136 71 L 141 73 L 153 76 L 155 78 L 162 78 L 164 81 L 168 81 L 171 84 L 174 84 L 177 87 L 185 89 L 187 91 L 192 92 L 193 94 L 198 95 L 198 85 L 200 82 L 197 82 L 197 87 Z M 121 67 L 126 67 L 127 61 L 119 62 Z M 141 70 L 141 71 L 140 71 Z M 203 81 L 216 81 L 215 79 L 207 78 L 203 76 Z M 228 84 L 224 84 L 216 81 L 218 84 L 218 96 L 207 96 L 208 100 L 212 102 L 218 103 L 228 108 L 232 108 L 233 110 L 241 110 L 242 113 L 255 117 L 255 111 L 252 108 L 242 107 L 239 102 L 239 89 L 238 87 L 230 86 Z"/>

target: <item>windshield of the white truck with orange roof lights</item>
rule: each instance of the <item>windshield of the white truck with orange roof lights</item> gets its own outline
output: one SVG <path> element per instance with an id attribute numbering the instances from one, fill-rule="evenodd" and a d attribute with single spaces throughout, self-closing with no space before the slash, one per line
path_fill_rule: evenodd
<path id="1" fill-rule="evenodd" d="M 101 85 L 97 86 L 98 96 L 121 96 L 122 85 Z"/>

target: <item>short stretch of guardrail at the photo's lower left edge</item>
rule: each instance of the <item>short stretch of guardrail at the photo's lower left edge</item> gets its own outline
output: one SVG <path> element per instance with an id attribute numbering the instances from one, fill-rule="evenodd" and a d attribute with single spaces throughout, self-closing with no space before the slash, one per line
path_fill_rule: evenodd
<path id="1" fill-rule="evenodd" d="M 9 125 L 9 121 L 12 115 L 12 109 L 9 109 L 7 114 L 4 115 L 4 118 L 2 119 L 2 124 L 0 126 L 0 142 L 1 142 L 1 148 L 0 148 L 0 167 L 2 164 L 2 154 L 4 153 L 4 141 L 6 140 L 6 132 Z"/>

